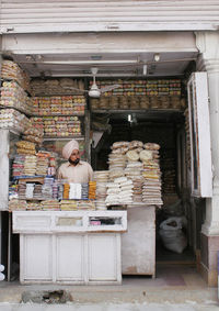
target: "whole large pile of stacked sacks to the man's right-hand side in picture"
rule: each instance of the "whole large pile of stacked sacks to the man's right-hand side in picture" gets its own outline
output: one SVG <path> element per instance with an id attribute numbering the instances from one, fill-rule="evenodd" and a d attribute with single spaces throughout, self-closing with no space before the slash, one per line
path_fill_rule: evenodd
<path id="1" fill-rule="evenodd" d="M 159 149 L 158 144 L 147 143 L 143 145 L 140 141 L 113 144 L 108 157 L 108 180 L 112 182 L 106 185 L 106 206 L 131 204 L 132 202 L 162 204 Z M 123 190 L 129 191 L 128 193 L 120 193 L 122 186 L 116 184 L 123 178 L 126 178 Z M 126 199 L 124 195 L 127 196 Z"/>

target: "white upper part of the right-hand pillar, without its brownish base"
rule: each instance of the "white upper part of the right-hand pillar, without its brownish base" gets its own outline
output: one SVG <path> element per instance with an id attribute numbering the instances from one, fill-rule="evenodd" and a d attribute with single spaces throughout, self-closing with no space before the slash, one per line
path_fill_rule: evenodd
<path id="1" fill-rule="evenodd" d="M 219 235 L 219 32 L 196 33 L 196 44 L 201 53 L 201 67 L 208 74 L 210 136 L 212 155 L 212 198 L 206 201 L 206 220 L 201 232 Z"/>

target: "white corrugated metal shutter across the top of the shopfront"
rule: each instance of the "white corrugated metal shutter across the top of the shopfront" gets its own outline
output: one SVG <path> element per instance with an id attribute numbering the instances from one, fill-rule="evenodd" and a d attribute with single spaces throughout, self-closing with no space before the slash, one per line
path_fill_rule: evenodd
<path id="1" fill-rule="evenodd" d="M 3 33 L 218 30 L 218 0 L 1 0 Z"/>

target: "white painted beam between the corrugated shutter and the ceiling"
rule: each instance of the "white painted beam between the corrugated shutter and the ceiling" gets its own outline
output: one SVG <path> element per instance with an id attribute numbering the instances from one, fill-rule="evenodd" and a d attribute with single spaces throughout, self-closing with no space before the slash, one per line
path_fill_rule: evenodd
<path id="1" fill-rule="evenodd" d="M 76 55 L 90 53 L 197 52 L 193 32 L 61 33 L 2 36 L 2 51 L 12 54 Z"/>

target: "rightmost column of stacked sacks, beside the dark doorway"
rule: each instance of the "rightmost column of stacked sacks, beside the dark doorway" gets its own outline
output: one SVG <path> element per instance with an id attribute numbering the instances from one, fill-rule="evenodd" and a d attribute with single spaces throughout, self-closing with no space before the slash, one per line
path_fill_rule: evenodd
<path id="1" fill-rule="evenodd" d="M 147 204 L 162 206 L 163 203 L 161 199 L 159 149 L 158 144 L 147 143 L 145 144 L 145 151 L 140 155 L 143 163 L 142 176 L 145 178 L 142 200 Z"/>

